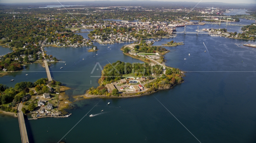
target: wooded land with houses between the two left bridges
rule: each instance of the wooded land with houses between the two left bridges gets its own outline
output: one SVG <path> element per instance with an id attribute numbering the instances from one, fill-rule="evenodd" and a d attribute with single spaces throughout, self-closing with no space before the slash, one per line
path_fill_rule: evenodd
<path id="1" fill-rule="evenodd" d="M 49 110 L 46 105 L 52 105 L 51 113 L 68 114 L 66 109 L 70 108 L 69 105 L 72 102 L 69 101 L 65 91 L 69 89 L 69 87 L 61 86 L 58 81 L 52 80 L 49 82 L 47 78 L 41 78 L 35 83 L 16 83 L 14 88 L 0 84 L 0 114 L 16 114 L 17 105 L 21 101 L 24 107 L 22 110 L 24 114 L 29 112 L 36 113 L 36 111 L 39 114 L 42 109 Z M 49 95 L 49 98 L 44 97 L 46 94 Z M 42 102 L 43 106 L 39 106 L 38 102 Z"/>

